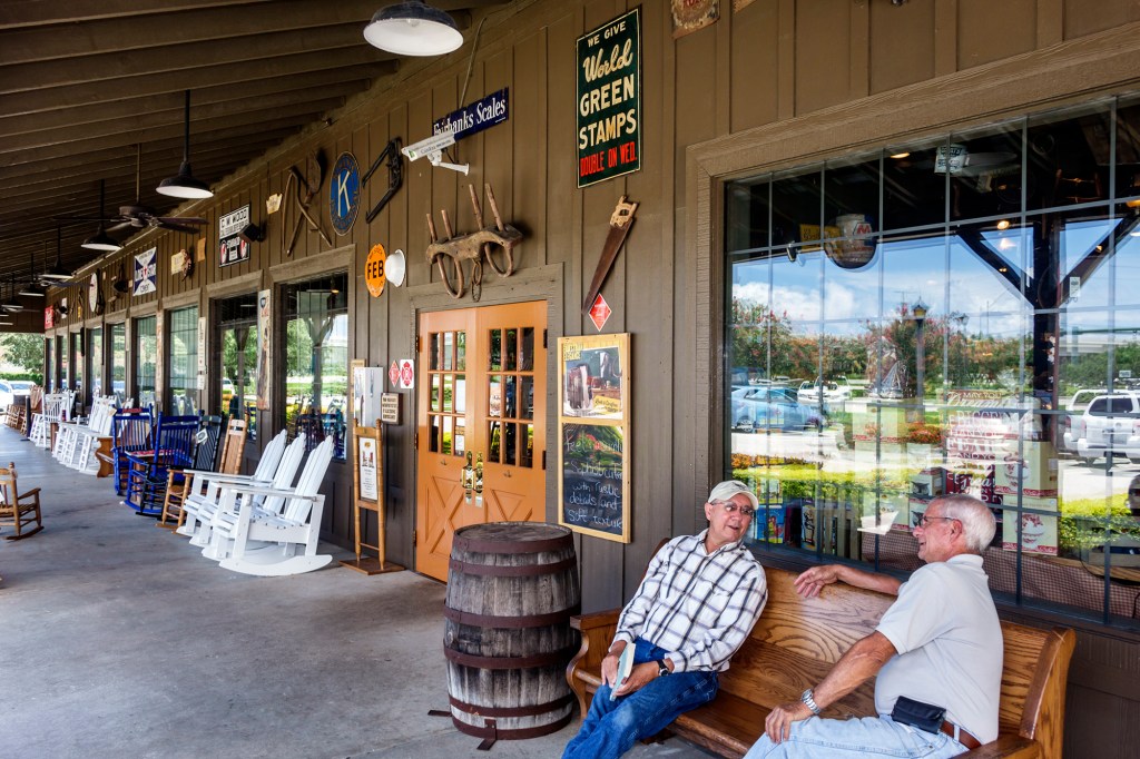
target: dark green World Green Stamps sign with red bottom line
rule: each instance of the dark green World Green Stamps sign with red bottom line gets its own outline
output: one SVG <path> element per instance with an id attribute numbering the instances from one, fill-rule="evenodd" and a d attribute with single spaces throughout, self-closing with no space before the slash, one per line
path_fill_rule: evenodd
<path id="1" fill-rule="evenodd" d="M 578 38 L 578 187 L 641 169 L 641 8 Z"/>

